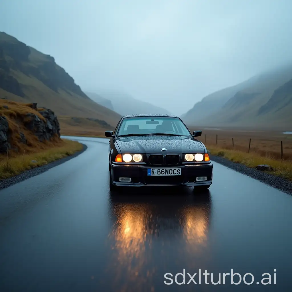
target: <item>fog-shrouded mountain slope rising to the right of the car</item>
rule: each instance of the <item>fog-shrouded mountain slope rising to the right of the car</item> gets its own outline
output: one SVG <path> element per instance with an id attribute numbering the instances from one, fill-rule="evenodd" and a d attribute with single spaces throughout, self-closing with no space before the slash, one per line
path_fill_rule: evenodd
<path id="1" fill-rule="evenodd" d="M 292 65 L 214 92 L 182 115 L 188 125 L 291 127 Z"/>

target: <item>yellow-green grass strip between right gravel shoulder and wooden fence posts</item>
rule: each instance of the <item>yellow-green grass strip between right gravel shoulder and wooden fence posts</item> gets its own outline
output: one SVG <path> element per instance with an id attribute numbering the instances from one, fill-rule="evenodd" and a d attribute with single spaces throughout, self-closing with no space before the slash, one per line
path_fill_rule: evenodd
<path id="1" fill-rule="evenodd" d="M 216 146 L 206 145 L 211 154 L 225 157 L 230 161 L 244 164 L 248 167 L 256 167 L 259 164 L 267 164 L 272 166 L 273 170 L 269 171 L 277 176 L 292 180 L 292 160 L 276 160 L 272 157 L 262 157 L 257 153 L 246 153 L 239 150 L 229 150 Z"/>

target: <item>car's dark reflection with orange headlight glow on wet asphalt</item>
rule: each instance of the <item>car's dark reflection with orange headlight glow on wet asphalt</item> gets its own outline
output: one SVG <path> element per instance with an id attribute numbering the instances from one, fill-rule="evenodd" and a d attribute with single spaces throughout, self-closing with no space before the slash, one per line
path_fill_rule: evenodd
<path id="1" fill-rule="evenodd" d="M 129 282 L 137 282 L 137 288 L 142 290 L 157 271 L 168 270 L 170 256 L 178 256 L 175 262 L 190 260 L 187 266 L 191 268 L 192 262 L 197 262 L 206 249 L 210 195 L 194 199 L 192 194 L 173 195 L 175 191 L 182 192 L 179 188 L 172 190 L 171 197 L 167 190 L 159 190 L 159 194 L 142 192 L 139 197 L 111 196 L 110 263 L 116 262 L 116 269 L 112 270 L 116 286 L 127 279 L 124 291 L 128 291 Z"/>

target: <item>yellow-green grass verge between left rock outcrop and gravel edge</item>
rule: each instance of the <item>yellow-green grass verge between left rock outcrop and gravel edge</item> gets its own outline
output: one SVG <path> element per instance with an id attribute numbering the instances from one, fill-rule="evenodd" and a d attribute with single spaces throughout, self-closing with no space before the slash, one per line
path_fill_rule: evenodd
<path id="1" fill-rule="evenodd" d="M 21 172 L 31 169 L 37 166 L 48 164 L 52 161 L 61 159 L 68 155 L 72 155 L 77 151 L 80 151 L 83 145 L 77 141 L 62 140 L 57 147 L 42 150 L 40 152 L 18 155 L 12 155 L 4 157 L 0 160 L 0 180 L 9 178 L 11 176 L 20 174 Z M 37 161 L 33 163 L 32 160 Z"/>

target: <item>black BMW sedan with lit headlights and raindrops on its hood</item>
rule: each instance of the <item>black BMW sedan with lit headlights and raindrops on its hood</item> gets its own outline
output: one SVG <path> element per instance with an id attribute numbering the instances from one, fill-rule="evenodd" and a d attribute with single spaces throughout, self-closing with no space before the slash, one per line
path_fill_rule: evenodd
<path id="1" fill-rule="evenodd" d="M 185 185 L 206 189 L 213 164 L 205 145 L 172 115 L 140 114 L 121 118 L 109 141 L 109 188 Z"/>

